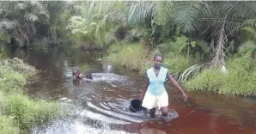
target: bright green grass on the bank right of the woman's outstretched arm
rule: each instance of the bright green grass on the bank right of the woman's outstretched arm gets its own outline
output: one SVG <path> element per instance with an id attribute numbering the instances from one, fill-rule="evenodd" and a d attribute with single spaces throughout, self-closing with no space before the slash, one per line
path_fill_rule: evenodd
<path id="1" fill-rule="evenodd" d="M 203 70 L 194 79 L 185 82 L 190 91 L 214 92 L 228 95 L 256 95 L 256 63 L 249 57 L 231 58 L 227 64 L 229 72 L 220 69 Z"/>

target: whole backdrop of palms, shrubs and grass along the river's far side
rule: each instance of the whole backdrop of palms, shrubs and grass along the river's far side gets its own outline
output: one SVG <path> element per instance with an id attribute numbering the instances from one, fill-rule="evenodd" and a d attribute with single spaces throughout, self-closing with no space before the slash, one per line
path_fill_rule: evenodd
<path id="1" fill-rule="evenodd" d="M 1 2 L 0 39 L 15 46 L 61 39 L 82 49 L 110 46 L 109 61 L 140 74 L 161 53 L 189 90 L 254 95 L 255 8 L 247 1 Z M 237 71 L 248 75 L 235 78 Z"/>

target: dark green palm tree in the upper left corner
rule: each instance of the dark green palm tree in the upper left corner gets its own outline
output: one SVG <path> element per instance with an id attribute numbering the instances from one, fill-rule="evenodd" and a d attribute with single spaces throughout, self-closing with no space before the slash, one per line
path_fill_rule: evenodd
<path id="1" fill-rule="evenodd" d="M 0 2 L 1 29 L 11 44 L 29 45 L 39 24 L 48 24 L 49 15 L 41 2 Z"/>

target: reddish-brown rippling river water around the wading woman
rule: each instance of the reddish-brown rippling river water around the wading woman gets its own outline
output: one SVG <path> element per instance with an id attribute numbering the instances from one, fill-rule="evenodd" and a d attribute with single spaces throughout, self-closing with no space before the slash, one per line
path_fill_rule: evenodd
<path id="1" fill-rule="evenodd" d="M 22 58 L 41 70 L 40 81 L 28 86 L 30 96 L 74 107 L 73 116 L 36 127 L 31 133 L 256 134 L 255 98 L 187 92 L 185 102 L 176 89 L 167 86 L 175 118 L 150 121 L 149 115 L 131 113 L 128 108 L 140 95 L 143 77 L 121 66 L 102 64 L 106 56 L 102 52 L 17 49 L 5 50 L 5 55 Z M 93 72 L 94 80 L 73 82 L 71 73 L 76 69 Z"/>

